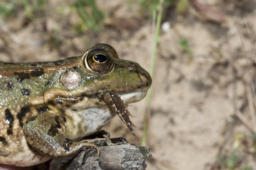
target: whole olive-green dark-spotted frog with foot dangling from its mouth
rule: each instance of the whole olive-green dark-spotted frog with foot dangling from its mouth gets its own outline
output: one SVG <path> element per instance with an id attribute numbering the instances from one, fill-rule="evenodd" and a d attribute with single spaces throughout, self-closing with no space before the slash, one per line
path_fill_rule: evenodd
<path id="1" fill-rule="evenodd" d="M 137 138 L 127 103 L 140 101 L 150 86 L 146 70 L 106 44 L 55 62 L 0 62 L 0 164 L 33 166 L 73 157 L 82 147 L 100 154 L 81 139 L 114 115 Z"/>

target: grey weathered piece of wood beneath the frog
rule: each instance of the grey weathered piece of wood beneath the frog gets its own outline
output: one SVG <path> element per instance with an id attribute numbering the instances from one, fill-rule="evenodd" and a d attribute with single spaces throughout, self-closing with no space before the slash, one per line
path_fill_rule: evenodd
<path id="1" fill-rule="evenodd" d="M 102 145 L 102 144 L 100 144 Z M 85 169 L 146 169 L 146 160 L 151 158 L 148 147 L 137 147 L 129 144 L 124 137 L 110 138 L 100 146 L 100 157 L 96 149 L 86 148 L 74 159 L 63 164 L 62 170 Z M 49 164 L 49 163 L 48 163 Z M 61 160 L 53 160 L 50 164 L 61 164 Z M 47 165 L 37 166 L 37 169 L 47 169 Z"/>

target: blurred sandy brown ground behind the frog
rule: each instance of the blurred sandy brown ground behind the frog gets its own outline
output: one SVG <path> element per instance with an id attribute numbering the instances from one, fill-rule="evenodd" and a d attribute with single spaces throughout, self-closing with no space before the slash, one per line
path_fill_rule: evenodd
<path id="1" fill-rule="evenodd" d="M 122 59 L 150 69 L 154 29 L 152 19 L 143 15 L 149 11 L 137 1 L 98 0 L 107 16 L 104 27 L 97 34 L 77 34 L 77 13 L 56 12 L 71 3 L 48 1 L 46 12 L 33 19 L 18 8 L 16 15 L 1 20 L 0 60 L 58 60 L 104 42 Z M 147 169 L 256 169 L 252 132 L 235 115 L 240 112 L 252 126 L 252 90 L 238 30 L 254 78 L 250 40 L 255 44 L 255 7 L 252 0 L 198 0 L 190 1 L 184 13 L 176 6 L 164 11 L 162 26 L 167 28 L 161 29 L 156 52 L 147 137 L 153 157 Z M 179 45 L 181 40 L 188 42 L 191 52 Z M 129 111 L 136 116 L 132 121 L 142 139 L 146 99 L 131 104 Z M 118 117 L 105 130 L 139 145 Z"/>

